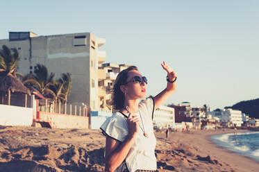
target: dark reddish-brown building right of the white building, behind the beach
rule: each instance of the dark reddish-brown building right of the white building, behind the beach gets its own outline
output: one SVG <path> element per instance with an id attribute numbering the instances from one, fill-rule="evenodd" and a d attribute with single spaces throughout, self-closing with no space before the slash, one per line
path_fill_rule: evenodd
<path id="1" fill-rule="evenodd" d="M 176 123 L 192 121 L 192 107 L 189 102 L 183 102 L 179 105 L 169 105 L 174 108 Z"/>

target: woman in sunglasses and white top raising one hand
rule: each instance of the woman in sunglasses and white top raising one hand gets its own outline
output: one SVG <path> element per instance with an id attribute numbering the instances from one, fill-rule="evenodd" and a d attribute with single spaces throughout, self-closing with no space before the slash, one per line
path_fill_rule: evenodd
<path id="1" fill-rule="evenodd" d="M 101 130 L 106 135 L 106 171 L 156 171 L 156 137 L 153 133 L 153 111 L 176 90 L 176 72 L 165 62 L 167 87 L 155 97 L 146 97 L 147 78 L 137 67 L 128 67 L 115 80 L 112 105 L 117 112 L 108 118 Z"/>

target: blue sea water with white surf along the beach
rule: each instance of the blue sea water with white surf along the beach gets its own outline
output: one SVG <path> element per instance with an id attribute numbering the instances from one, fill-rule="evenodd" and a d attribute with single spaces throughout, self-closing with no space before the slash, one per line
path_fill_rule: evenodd
<path id="1" fill-rule="evenodd" d="M 259 161 L 259 132 L 228 133 L 211 138 L 219 146 Z"/>

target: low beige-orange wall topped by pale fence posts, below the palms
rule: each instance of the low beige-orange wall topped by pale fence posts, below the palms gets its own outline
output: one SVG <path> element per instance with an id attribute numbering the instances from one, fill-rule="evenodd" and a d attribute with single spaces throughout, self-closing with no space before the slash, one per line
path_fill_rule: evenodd
<path id="1" fill-rule="evenodd" d="M 37 112 L 37 121 L 48 121 L 53 128 L 88 128 L 89 126 L 88 117 L 48 112 Z"/>

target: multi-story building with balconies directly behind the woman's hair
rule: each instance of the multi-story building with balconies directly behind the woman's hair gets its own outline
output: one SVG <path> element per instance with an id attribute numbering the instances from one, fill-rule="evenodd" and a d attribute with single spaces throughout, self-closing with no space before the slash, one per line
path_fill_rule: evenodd
<path id="1" fill-rule="evenodd" d="M 99 107 L 101 110 L 112 110 L 111 106 L 111 90 L 115 83 L 115 79 L 120 71 L 130 67 L 130 65 L 118 65 L 115 63 L 103 63 L 98 69 L 98 85 L 99 85 Z"/>

